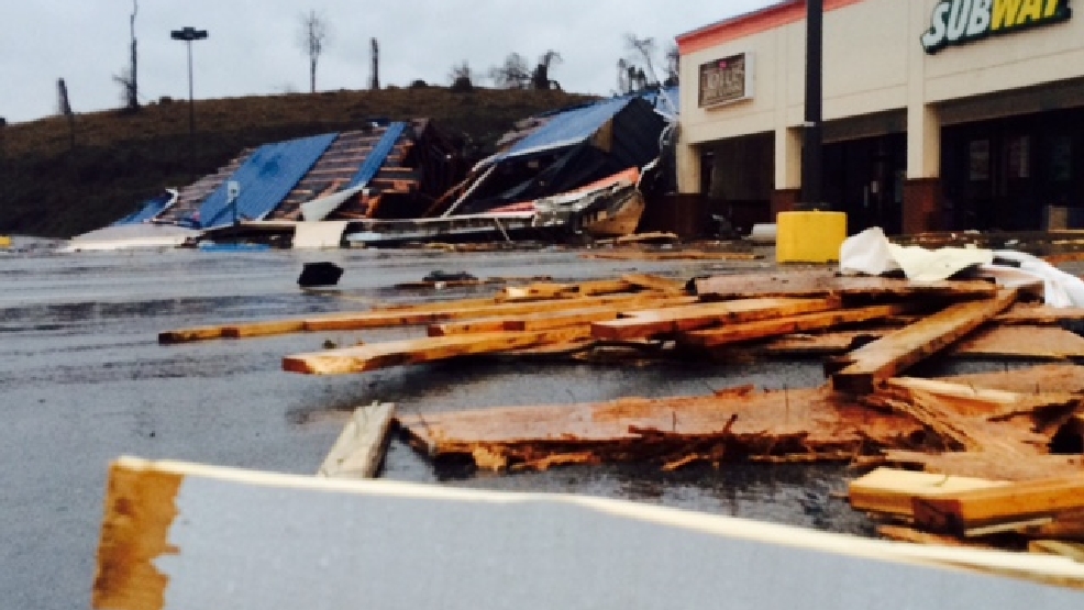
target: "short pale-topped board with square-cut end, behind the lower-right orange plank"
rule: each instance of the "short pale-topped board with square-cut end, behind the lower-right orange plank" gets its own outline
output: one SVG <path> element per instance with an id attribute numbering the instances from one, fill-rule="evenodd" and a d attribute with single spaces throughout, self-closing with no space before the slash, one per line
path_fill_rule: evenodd
<path id="1" fill-rule="evenodd" d="M 855 510 L 909 519 L 912 517 L 914 498 L 933 498 L 1003 485 L 1008 485 L 1008 481 L 877 468 L 852 480 L 848 497 L 851 508 Z"/>

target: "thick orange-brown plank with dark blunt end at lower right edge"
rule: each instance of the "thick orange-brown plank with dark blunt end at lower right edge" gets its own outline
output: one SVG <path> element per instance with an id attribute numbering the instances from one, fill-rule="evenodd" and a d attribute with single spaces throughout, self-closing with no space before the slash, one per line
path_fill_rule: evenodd
<path id="1" fill-rule="evenodd" d="M 915 522 L 936 532 L 964 533 L 1004 522 L 1052 517 L 1061 511 L 1084 508 L 1084 474 L 1015 483 L 987 489 L 973 489 L 915 498 Z"/>

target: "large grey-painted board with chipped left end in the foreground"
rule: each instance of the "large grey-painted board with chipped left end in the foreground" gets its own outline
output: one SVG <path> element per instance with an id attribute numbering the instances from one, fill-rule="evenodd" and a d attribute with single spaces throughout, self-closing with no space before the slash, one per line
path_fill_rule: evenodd
<path id="1" fill-rule="evenodd" d="M 104 492 L 98 610 L 697 610 L 719 600 L 738 610 L 1079 610 L 1084 600 L 1084 566 L 1064 557 L 605 498 L 136 458 L 110 466 Z"/>

